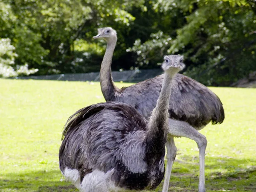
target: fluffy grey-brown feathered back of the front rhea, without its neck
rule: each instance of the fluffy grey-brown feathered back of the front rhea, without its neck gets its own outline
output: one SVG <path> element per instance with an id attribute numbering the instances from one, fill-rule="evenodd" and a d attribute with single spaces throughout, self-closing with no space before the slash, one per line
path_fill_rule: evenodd
<path id="1" fill-rule="evenodd" d="M 129 105 L 106 102 L 83 108 L 65 125 L 60 169 L 64 175 L 67 169 L 77 170 L 81 182 L 93 172 L 111 173 L 108 179 L 114 186 L 144 189 L 150 182 L 145 130 L 144 117 Z"/>

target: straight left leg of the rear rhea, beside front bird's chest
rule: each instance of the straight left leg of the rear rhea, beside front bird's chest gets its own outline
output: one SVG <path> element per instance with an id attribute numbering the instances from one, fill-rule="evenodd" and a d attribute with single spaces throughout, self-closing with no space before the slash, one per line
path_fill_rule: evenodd
<path id="1" fill-rule="evenodd" d="M 163 190 L 162 192 L 168 192 L 169 189 L 169 182 L 172 172 L 172 164 L 176 157 L 176 151 L 177 148 L 175 146 L 173 137 L 171 135 L 168 136 L 167 142 L 166 142 L 166 149 L 167 149 L 167 166 L 166 166 L 166 172 L 164 176 L 164 182 L 163 182 Z"/>

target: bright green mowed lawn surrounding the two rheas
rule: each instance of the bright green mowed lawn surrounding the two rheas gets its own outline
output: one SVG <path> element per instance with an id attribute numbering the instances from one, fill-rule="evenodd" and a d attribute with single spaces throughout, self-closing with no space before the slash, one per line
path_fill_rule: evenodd
<path id="1" fill-rule="evenodd" d="M 201 131 L 208 140 L 207 192 L 255 192 L 256 89 L 209 88 L 223 102 L 226 118 Z M 62 128 L 78 109 L 98 102 L 104 102 L 99 82 L 0 79 L 0 192 L 76 191 L 58 167 Z M 186 138 L 175 142 L 169 191 L 197 191 L 197 145 Z"/>

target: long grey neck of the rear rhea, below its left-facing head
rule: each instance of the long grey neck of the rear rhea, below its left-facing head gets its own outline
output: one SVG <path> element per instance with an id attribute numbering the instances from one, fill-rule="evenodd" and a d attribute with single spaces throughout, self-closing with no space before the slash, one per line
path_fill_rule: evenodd
<path id="1" fill-rule="evenodd" d="M 100 67 L 100 86 L 103 93 L 103 96 L 106 101 L 111 101 L 115 97 L 115 92 L 119 89 L 114 85 L 113 79 L 111 76 L 111 63 L 113 52 L 116 47 L 117 38 L 113 38 L 108 41 L 105 55 L 102 60 Z"/>

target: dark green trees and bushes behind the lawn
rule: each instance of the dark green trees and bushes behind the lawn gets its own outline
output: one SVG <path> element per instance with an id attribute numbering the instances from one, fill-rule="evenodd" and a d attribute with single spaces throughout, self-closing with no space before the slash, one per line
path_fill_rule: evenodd
<path id="1" fill-rule="evenodd" d="M 1 0 L 0 77 L 99 71 L 117 31 L 112 70 L 185 57 L 185 74 L 229 86 L 256 70 L 255 0 Z"/>

